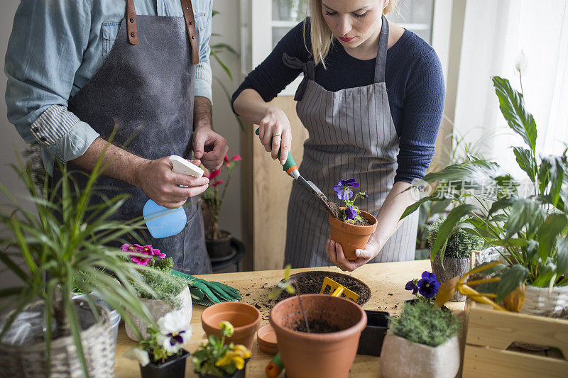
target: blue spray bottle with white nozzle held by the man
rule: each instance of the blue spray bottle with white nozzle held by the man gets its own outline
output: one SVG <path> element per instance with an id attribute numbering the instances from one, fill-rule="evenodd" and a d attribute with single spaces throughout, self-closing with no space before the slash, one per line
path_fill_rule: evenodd
<path id="1" fill-rule="evenodd" d="M 172 155 L 170 156 L 170 161 L 172 162 L 173 172 L 175 173 L 189 174 L 195 177 L 203 176 L 203 169 L 185 160 L 183 157 Z M 177 235 L 182 232 L 187 223 L 187 216 L 185 216 L 183 206 L 178 209 L 168 209 L 148 199 L 146 204 L 144 204 L 142 213 L 148 231 L 150 231 L 150 234 L 155 239 Z"/>

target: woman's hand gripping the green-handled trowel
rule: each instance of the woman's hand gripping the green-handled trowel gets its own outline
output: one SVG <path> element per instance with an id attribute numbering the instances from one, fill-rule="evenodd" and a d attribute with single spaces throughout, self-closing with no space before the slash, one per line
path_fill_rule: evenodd
<path id="1" fill-rule="evenodd" d="M 278 159 L 278 150 L 281 147 L 280 165 L 284 165 L 292 145 L 292 130 L 290 130 L 288 117 L 282 109 L 271 107 L 266 109 L 259 126 L 258 136 L 261 138 L 264 149 L 271 152 L 273 159 Z"/>

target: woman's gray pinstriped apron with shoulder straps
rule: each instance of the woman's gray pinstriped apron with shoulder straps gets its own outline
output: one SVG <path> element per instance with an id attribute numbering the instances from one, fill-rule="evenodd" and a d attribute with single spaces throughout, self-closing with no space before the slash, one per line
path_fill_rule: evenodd
<path id="1" fill-rule="evenodd" d="M 304 71 L 295 100 L 300 120 L 310 137 L 304 143 L 300 172 L 332 201 L 333 187 L 353 177 L 368 194 L 359 209 L 377 216 L 394 183 L 398 167 L 398 135 L 391 118 L 385 84 L 388 22 L 383 16 L 375 66 L 375 82 L 365 87 L 327 91 L 315 82 L 313 60 L 300 62 L 284 55 L 286 65 Z M 355 193 L 357 189 L 354 189 Z M 418 213 L 400 228 L 371 262 L 414 260 Z M 325 242 L 330 227 L 324 207 L 294 181 L 288 204 L 285 264 L 292 267 L 329 265 Z"/>

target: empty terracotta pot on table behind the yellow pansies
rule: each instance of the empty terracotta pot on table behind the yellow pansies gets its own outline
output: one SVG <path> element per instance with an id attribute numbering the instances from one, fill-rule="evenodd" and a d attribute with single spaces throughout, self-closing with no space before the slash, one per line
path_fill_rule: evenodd
<path id="1" fill-rule="evenodd" d="M 221 338 L 221 321 L 231 323 L 235 332 L 225 342 L 242 344 L 246 348 L 253 348 L 254 334 L 261 323 L 261 312 L 250 304 L 241 302 L 222 302 L 205 308 L 201 314 L 201 324 L 207 336 L 217 335 Z"/>

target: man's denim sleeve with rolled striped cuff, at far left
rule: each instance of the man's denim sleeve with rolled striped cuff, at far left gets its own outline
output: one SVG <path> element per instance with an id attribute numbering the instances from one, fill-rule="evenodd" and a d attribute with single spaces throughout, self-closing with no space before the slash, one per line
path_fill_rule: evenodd
<path id="1" fill-rule="evenodd" d="M 14 17 L 4 68 L 8 119 L 26 142 L 41 145 L 50 173 L 55 158 L 74 160 L 99 136 L 67 110 L 90 19 L 86 0 L 23 0 Z"/>

